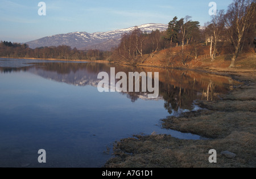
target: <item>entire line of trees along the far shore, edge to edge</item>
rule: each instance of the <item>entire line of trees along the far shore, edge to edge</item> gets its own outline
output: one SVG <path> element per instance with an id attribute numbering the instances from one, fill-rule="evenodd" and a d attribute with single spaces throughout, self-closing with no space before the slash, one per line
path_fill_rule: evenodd
<path id="1" fill-rule="evenodd" d="M 185 66 L 188 61 L 206 53 L 214 61 L 221 53 L 229 53 L 232 54 L 230 67 L 234 67 L 238 55 L 255 44 L 255 11 L 256 0 L 233 0 L 226 12 L 217 11 L 204 28 L 200 28 L 199 22 L 193 21 L 191 16 L 181 19 L 175 16 L 168 24 L 167 31 L 147 33 L 135 28 L 126 33 L 112 52 L 83 51 L 65 45 L 30 49 L 27 44 L 1 41 L 0 56 L 93 61 L 112 59 L 134 64 L 143 63 L 159 50 L 168 49 L 168 57 L 164 59 L 168 65 L 182 63 Z M 205 49 L 209 51 L 205 52 Z"/>

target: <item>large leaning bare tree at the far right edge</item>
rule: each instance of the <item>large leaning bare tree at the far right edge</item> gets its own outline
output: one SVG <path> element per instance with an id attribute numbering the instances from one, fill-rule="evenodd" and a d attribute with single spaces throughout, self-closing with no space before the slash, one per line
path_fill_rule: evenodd
<path id="1" fill-rule="evenodd" d="M 234 46 L 232 61 L 229 67 L 235 66 L 238 54 L 242 51 L 245 44 L 247 30 L 252 25 L 255 18 L 255 0 L 234 0 L 229 5 L 225 15 L 225 25 L 228 28 L 230 42 Z"/>

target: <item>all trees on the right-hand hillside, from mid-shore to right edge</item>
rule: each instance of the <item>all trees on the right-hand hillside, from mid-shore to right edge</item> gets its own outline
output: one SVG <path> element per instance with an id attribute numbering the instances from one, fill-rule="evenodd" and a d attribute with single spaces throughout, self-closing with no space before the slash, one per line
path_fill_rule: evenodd
<path id="1" fill-rule="evenodd" d="M 159 50 L 181 46 L 181 50 L 172 51 L 167 58 L 168 63 L 173 61 L 171 58 L 176 58 L 185 66 L 189 60 L 205 54 L 203 46 L 209 46 L 212 61 L 221 52 L 230 53 L 230 67 L 234 67 L 238 54 L 254 46 L 255 4 L 255 0 L 234 0 L 226 12 L 217 11 L 204 28 L 200 28 L 199 22 L 193 21 L 191 16 L 179 20 L 175 16 L 164 32 L 156 30 L 146 33 L 135 28 L 133 32 L 122 36 L 112 58 L 142 63 Z"/>

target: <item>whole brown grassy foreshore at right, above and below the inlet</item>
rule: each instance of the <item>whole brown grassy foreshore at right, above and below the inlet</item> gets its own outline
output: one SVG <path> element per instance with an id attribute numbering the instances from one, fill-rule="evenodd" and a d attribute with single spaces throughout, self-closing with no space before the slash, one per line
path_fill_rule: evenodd
<path id="1" fill-rule="evenodd" d="M 134 135 L 114 144 L 114 157 L 105 167 L 256 167 L 256 76 L 225 74 L 242 82 L 218 101 L 197 101 L 204 108 L 168 117 L 162 127 L 193 133 L 208 140 L 183 140 L 171 135 Z M 209 163 L 209 150 L 217 163 Z M 229 158 L 222 151 L 236 154 Z"/>

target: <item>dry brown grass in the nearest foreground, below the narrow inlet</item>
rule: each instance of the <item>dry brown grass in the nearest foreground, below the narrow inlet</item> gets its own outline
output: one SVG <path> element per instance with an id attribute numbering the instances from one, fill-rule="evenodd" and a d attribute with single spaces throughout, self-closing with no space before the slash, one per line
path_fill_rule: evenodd
<path id="1" fill-rule="evenodd" d="M 224 139 L 179 140 L 170 135 L 135 136 L 123 139 L 115 146 L 115 155 L 106 163 L 111 168 L 199 168 L 199 167 L 256 167 L 256 135 L 234 131 Z M 127 150 L 133 148 L 133 151 Z M 209 163 L 209 150 L 217 151 L 217 163 Z M 222 151 L 234 152 L 227 159 Z M 128 154 L 130 153 L 131 154 Z"/>

